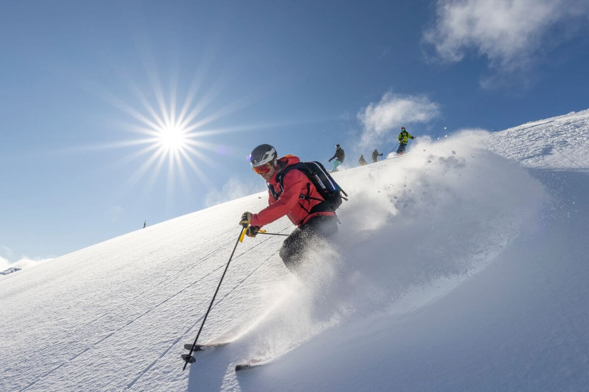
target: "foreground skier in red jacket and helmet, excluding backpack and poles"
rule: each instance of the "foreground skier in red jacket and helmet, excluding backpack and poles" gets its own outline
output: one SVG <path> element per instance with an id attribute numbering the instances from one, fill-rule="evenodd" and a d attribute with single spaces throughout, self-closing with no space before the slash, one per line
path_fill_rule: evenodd
<path id="1" fill-rule="evenodd" d="M 247 236 L 255 237 L 262 226 L 288 216 L 290 222 L 298 227 L 284 240 L 280 257 L 291 272 L 296 272 L 310 240 L 337 232 L 337 218 L 333 211 L 311 212 L 313 207 L 322 203 L 323 197 L 303 172 L 295 169 L 286 173 L 281 192 L 276 176 L 286 166 L 298 162 L 300 159 L 293 155 L 277 159 L 276 150 L 267 144 L 253 149 L 250 163 L 254 172 L 268 183 L 269 205 L 257 214 L 244 212 L 239 222 L 240 225 L 248 225 Z"/>

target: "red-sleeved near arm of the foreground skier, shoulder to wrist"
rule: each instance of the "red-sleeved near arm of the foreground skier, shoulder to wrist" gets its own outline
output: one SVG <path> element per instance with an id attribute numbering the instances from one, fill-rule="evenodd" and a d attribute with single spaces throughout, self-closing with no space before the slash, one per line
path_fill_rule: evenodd
<path id="1" fill-rule="evenodd" d="M 262 227 L 286 215 L 299 202 L 301 190 L 307 177 L 300 170 L 290 170 L 284 176 L 284 191 L 276 202 L 264 208 L 257 214 L 252 214 L 252 225 Z"/>

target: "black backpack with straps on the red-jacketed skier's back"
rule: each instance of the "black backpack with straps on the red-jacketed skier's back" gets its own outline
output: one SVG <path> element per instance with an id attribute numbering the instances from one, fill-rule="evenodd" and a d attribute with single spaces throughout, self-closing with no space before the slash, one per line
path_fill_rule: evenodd
<path id="1" fill-rule="evenodd" d="M 299 205 L 302 207 L 303 210 L 307 211 L 307 213 L 312 214 L 316 212 L 335 212 L 337 207 L 342 205 L 342 199 L 348 200 L 344 196 L 348 196 L 348 194 L 339 186 L 337 182 L 333 179 L 332 176 L 327 173 L 325 167 L 321 164 L 321 162 L 299 162 L 294 163 L 294 165 L 286 166 L 276 175 L 276 181 L 280 184 L 280 192 L 274 192 L 274 187 L 271 184 L 268 184 L 268 189 L 270 193 L 274 197 L 274 199 L 278 200 L 280 195 L 284 190 L 284 176 L 286 173 L 290 172 L 290 170 L 300 170 L 307 176 L 310 182 L 313 183 L 317 192 L 320 193 L 323 199 L 317 199 L 317 197 L 311 197 L 311 189 L 309 183 L 307 183 L 307 194 L 303 195 L 301 193 L 300 198 L 305 200 L 319 200 L 321 203 L 313 206 L 313 208 L 308 211 L 301 203 Z M 342 196 L 342 193 L 344 196 Z"/>

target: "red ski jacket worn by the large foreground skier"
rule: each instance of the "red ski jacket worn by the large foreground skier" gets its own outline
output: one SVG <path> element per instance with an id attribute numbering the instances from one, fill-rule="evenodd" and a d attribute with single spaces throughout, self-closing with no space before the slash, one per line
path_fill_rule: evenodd
<path id="1" fill-rule="evenodd" d="M 286 167 L 293 165 L 294 163 L 300 162 L 300 159 L 293 155 L 283 156 L 278 160 L 278 167 Z M 286 163 L 286 165 L 284 165 Z M 284 166 L 283 166 L 284 165 Z M 276 173 L 272 176 L 269 184 L 274 187 L 275 192 L 280 192 L 280 184 L 276 182 Z M 252 214 L 252 226 L 262 227 L 268 223 L 274 222 L 274 220 L 288 216 L 290 222 L 294 225 L 300 226 L 306 223 L 313 216 L 317 215 L 335 215 L 333 212 L 316 212 L 309 214 L 315 205 L 321 203 L 319 200 L 313 199 L 301 199 L 300 196 L 307 195 L 307 183 L 310 184 L 309 190 L 311 197 L 316 199 L 323 199 L 321 194 L 317 192 L 315 185 L 307 178 L 300 170 L 290 170 L 286 173 L 283 179 L 284 191 L 282 195 L 278 197 L 278 200 L 272 197 L 272 193 L 268 190 L 268 204 L 266 208 L 257 214 Z M 304 207 L 304 208 L 303 208 Z"/>

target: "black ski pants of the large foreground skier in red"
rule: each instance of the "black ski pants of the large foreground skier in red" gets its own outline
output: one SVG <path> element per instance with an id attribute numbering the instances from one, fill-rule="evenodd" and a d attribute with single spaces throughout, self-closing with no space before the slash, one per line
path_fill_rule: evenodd
<path id="1" fill-rule="evenodd" d="M 337 233 L 337 218 L 318 215 L 294 229 L 280 248 L 280 258 L 290 272 L 296 273 L 302 258 L 314 240 L 322 240 Z"/>

